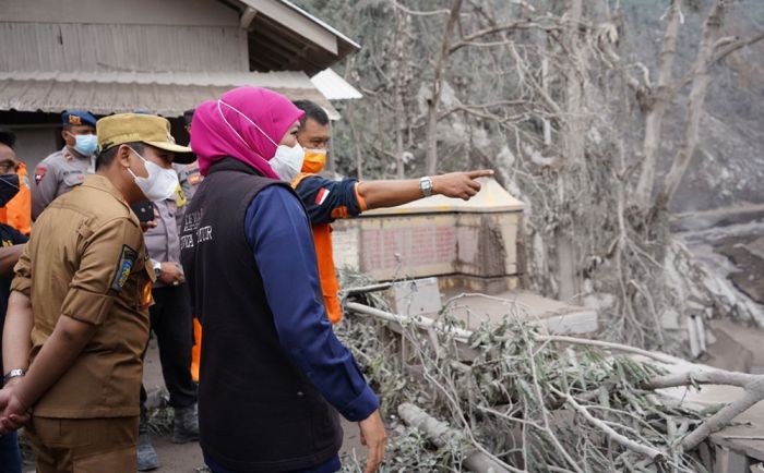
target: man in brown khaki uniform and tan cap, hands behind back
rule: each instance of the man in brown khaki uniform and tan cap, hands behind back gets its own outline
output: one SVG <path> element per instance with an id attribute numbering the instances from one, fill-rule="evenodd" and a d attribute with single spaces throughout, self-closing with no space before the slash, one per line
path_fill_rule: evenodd
<path id="1" fill-rule="evenodd" d="M 160 117 L 97 129 L 97 172 L 37 220 L 9 301 L 0 435 L 34 409 L 39 473 L 135 471 L 153 271 L 130 204 L 171 195 L 174 153 L 190 151 Z"/>

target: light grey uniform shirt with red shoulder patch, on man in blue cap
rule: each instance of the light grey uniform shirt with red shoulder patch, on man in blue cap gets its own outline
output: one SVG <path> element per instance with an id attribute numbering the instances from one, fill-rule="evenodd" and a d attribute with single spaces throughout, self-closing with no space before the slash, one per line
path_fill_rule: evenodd
<path id="1" fill-rule="evenodd" d="M 32 186 L 32 219 L 37 217 L 56 197 L 81 185 L 85 175 L 95 172 L 95 156 L 82 157 L 67 146 L 43 159 L 35 168 Z"/>

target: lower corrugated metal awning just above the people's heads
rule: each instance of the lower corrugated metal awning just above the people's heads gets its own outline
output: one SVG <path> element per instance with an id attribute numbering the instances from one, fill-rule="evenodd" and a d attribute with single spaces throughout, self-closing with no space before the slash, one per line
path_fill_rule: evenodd
<path id="1" fill-rule="evenodd" d="M 60 112 L 84 109 L 96 114 L 150 110 L 180 117 L 204 100 L 234 87 L 271 88 L 286 97 L 315 101 L 333 119 L 337 111 L 302 72 L 268 73 L 67 73 L 0 72 L 0 110 Z"/>

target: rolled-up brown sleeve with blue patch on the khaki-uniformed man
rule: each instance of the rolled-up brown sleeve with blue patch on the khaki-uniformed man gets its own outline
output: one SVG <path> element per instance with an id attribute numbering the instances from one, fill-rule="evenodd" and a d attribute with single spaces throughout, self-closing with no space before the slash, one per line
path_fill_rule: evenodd
<path id="1" fill-rule="evenodd" d="M 127 218 L 110 220 L 88 235 L 61 313 L 103 324 L 130 272 L 139 270 L 142 238 L 141 230 Z"/>

